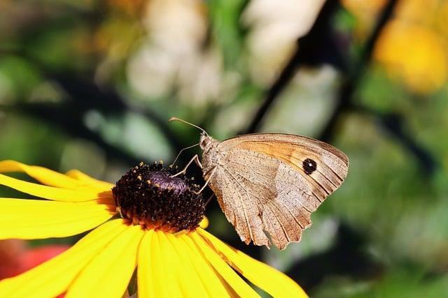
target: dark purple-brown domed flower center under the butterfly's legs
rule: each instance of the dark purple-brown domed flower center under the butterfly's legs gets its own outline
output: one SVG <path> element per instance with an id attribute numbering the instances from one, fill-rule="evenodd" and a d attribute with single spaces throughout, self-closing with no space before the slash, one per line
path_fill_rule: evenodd
<path id="1" fill-rule="evenodd" d="M 204 217 L 199 186 L 162 162 L 132 167 L 112 188 L 121 217 L 147 229 L 179 232 L 195 230 Z"/>

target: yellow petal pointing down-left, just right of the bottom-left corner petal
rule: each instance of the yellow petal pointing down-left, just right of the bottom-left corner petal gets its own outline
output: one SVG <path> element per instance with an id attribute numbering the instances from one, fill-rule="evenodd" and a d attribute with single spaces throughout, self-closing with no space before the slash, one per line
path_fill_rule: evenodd
<path id="1" fill-rule="evenodd" d="M 139 225 L 128 226 L 80 272 L 66 297 L 123 297 L 137 266 L 143 236 Z"/>

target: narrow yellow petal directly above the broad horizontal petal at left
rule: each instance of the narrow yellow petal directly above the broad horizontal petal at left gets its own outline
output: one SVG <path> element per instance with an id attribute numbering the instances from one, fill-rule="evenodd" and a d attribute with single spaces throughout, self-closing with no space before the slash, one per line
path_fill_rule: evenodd
<path id="1" fill-rule="evenodd" d="M 10 188 L 14 188 L 18 191 L 21 191 L 22 193 L 35 195 L 39 198 L 63 202 L 83 202 L 101 197 L 111 197 L 112 195 L 111 191 L 103 192 L 96 189 L 92 189 L 91 191 L 71 190 L 45 186 L 15 179 L 3 174 L 0 174 L 0 184 L 3 184 L 4 186 L 8 186 Z"/>

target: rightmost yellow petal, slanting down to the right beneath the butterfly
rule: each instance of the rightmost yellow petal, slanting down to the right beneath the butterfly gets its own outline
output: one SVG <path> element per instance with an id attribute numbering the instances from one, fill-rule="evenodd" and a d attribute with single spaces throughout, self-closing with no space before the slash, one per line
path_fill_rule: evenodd
<path id="1" fill-rule="evenodd" d="M 229 265 L 269 295 L 273 297 L 308 297 L 297 283 L 280 271 L 237 251 L 235 248 L 230 248 L 223 241 L 201 228 L 198 228 L 197 232 L 214 247 L 217 253 L 223 255 Z"/>

